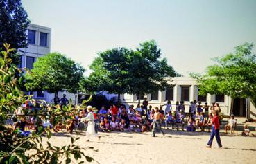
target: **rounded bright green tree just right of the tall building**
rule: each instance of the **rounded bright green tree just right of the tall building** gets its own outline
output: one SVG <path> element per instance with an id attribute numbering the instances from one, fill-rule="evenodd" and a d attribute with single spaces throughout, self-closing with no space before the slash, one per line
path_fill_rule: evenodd
<path id="1" fill-rule="evenodd" d="M 80 64 L 76 64 L 65 55 L 49 53 L 38 58 L 31 73 L 26 74 L 27 80 L 33 81 L 27 86 L 34 91 L 46 90 L 49 93 L 56 93 L 56 95 L 63 89 L 67 89 L 70 93 L 76 93 L 84 71 L 85 69 Z"/>

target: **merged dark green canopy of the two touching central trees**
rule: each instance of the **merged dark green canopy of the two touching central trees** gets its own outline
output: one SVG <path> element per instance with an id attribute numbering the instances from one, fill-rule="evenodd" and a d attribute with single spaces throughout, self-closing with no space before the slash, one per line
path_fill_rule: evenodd
<path id="1" fill-rule="evenodd" d="M 170 77 L 178 74 L 167 64 L 165 58 L 161 59 L 161 50 L 157 48 L 155 41 L 139 45 L 135 51 L 113 48 L 99 53 L 99 57 L 90 66 L 93 72 L 86 78 L 83 86 L 118 95 L 143 95 L 164 90 L 170 85 Z"/>

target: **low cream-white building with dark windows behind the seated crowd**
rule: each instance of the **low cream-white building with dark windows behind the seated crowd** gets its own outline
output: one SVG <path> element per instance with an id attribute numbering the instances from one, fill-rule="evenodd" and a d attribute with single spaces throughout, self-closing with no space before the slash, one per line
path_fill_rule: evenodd
<path id="1" fill-rule="evenodd" d="M 253 108 L 253 105 L 248 99 L 232 99 L 227 95 L 207 94 L 207 96 L 199 96 L 196 80 L 193 78 L 176 77 L 173 78 L 172 83 L 173 87 L 165 91 L 156 91 L 155 93 L 145 95 L 148 99 L 148 104 L 153 107 L 160 107 L 160 105 L 166 104 L 167 100 L 171 100 L 172 108 L 175 109 L 176 102 L 183 100 L 185 102 L 185 111 L 188 112 L 191 101 L 197 100 L 202 102 L 203 105 L 205 102 L 207 102 L 208 105 L 211 105 L 212 102 L 218 102 L 221 111 L 225 115 L 234 113 L 235 116 L 248 116 L 250 119 L 256 119 L 256 109 Z M 144 96 L 142 96 L 141 102 L 143 98 Z M 121 95 L 121 102 L 126 105 L 133 104 L 136 107 L 138 104 L 137 95 Z"/>

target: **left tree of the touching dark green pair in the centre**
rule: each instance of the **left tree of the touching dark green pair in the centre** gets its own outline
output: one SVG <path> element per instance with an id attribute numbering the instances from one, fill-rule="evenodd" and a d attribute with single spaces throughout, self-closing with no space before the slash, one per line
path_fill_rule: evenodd
<path id="1" fill-rule="evenodd" d="M 130 51 L 126 48 L 113 48 L 99 53 L 89 67 L 93 72 L 82 86 L 89 91 L 108 91 L 120 94 L 128 88 L 128 68 Z"/>

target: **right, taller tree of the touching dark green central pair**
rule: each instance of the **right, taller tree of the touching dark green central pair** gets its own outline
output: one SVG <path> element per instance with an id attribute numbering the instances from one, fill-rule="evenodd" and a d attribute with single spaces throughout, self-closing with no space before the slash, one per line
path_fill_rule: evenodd
<path id="1" fill-rule="evenodd" d="M 128 93 L 140 96 L 164 90 L 171 86 L 171 77 L 178 75 L 167 59 L 161 59 L 161 50 L 155 41 L 139 44 L 139 48 L 130 55 L 128 66 Z"/>

